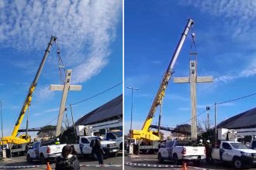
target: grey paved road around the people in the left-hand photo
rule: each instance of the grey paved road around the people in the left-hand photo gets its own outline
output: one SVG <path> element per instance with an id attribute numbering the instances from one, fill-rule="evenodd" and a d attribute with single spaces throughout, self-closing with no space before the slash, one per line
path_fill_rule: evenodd
<path id="1" fill-rule="evenodd" d="M 106 166 L 113 166 L 113 165 L 122 165 L 123 164 L 123 155 L 120 153 L 115 158 L 106 158 L 104 159 L 104 163 Z M 98 161 L 95 161 L 95 159 L 91 157 L 80 157 L 79 158 L 80 165 L 99 165 Z M 6 158 L 5 160 L 0 161 L 0 166 L 26 166 L 26 165 L 41 165 L 40 162 L 34 161 L 33 163 L 29 164 L 26 162 L 26 156 L 19 156 L 19 157 L 12 157 L 12 158 Z M 51 168 L 55 168 L 54 162 L 51 163 Z M 81 169 L 102 169 L 103 167 L 81 167 Z M 0 168 L 5 169 L 5 168 Z M 12 168 L 8 168 L 12 169 Z M 26 169 L 26 168 L 20 168 L 20 169 Z M 29 168 L 29 169 L 46 169 L 46 165 L 43 165 L 38 168 Z M 121 167 L 104 167 L 104 169 L 113 169 L 113 170 L 121 170 L 123 169 L 123 166 Z"/>

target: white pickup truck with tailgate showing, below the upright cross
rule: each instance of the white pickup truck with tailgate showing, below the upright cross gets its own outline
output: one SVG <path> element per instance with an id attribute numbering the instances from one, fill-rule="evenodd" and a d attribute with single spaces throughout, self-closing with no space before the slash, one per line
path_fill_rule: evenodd
<path id="1" fill-rule="evenodd" d="M 206 158 L 206 149 L 192 141 L 167 141 L 165 145 L 161 145 L 157 158 L 161 163 L 164 162 L 164 159 L 171 160 L 174 165 L 178 165 L 182 161 L 199 164 L 202 159 Z"/>

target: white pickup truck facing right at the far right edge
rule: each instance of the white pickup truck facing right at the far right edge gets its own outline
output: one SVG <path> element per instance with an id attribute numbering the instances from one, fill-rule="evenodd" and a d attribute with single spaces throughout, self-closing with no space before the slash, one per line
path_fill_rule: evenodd
<path id="1" fill-rule="evenodd" d="M 212 148 L 212 160 L 231 162 L 234 168 L 256 163 L 256 151 L 236 141 L 221 141 L 220 147 Z"/>

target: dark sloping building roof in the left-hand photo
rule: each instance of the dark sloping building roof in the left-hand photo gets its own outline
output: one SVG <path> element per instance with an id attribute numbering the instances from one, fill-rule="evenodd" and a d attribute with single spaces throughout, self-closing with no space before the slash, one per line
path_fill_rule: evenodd
<path id="1" fill-rule="evenodd" d="M 78 119 L 75 125 L 96 124 L 123 118 L 123 94 Z"/>

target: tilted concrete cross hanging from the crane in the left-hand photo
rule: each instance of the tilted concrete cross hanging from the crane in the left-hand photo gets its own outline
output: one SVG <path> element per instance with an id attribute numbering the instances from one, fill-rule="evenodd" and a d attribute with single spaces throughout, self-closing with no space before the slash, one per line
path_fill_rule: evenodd
<path id="1" fill-rule="evenodd" d="M 61 107 L 59 110 L 59 117 L 57 119 L 56 137 L 61 134 L 61 125 L 66 106 L 67 93 L 69 90 L 81 90 L 81 85 L 70 85 L 72 70 L 67 70 L 64 85 L 50 85 L 50 90 L 62 90 Z"/>

